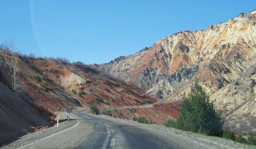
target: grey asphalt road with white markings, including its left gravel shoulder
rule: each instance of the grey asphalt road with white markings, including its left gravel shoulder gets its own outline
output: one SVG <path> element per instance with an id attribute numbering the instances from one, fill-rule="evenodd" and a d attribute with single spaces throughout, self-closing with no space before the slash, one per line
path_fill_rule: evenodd
<path id="1" fill-rule="evenodd" d="M 204 148 L 152 126 L 73 111 L 70 122 L 32 133 L 4 148 Z M 41 134 L 40 134 L 41 133 Z"/>

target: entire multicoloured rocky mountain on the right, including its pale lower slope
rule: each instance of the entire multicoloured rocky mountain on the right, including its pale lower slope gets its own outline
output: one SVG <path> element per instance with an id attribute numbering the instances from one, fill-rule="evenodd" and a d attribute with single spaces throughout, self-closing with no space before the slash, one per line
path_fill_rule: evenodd
<path id="1" fill-rule="evenodd" d="M 255 134 L 255 53 L 256 10 L 93 67 L 160 100 L 182 100 L 198 80 L 226 128 Z"/>

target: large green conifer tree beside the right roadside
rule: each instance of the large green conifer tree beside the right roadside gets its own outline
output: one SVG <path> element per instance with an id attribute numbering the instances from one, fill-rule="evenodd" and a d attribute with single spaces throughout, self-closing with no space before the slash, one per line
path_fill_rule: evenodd
<path id="1" fill-rule="evenodd" d="M 196 81 L 188 96 L 183 99 L 176 127 L 185 131 L 212 134 L 222 130 L 223 122 L 209 96 Z"/>

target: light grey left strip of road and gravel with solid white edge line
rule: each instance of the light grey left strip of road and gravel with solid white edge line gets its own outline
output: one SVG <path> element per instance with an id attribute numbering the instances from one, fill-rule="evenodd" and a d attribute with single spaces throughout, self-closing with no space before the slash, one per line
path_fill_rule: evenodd
<path id="1" fill-rule="evenodd" d="M 86 143 L 93 131 L 93 125 L 83 120 L 64 121 L 59 123 L 58 128 L 55 125 L 27 134 L 3 148 L 76 148 L 79 144 Z"/>

